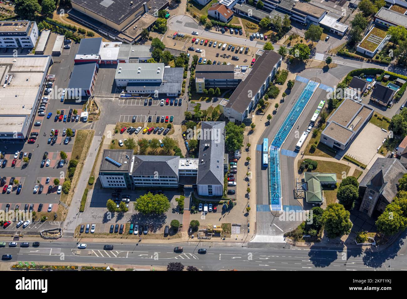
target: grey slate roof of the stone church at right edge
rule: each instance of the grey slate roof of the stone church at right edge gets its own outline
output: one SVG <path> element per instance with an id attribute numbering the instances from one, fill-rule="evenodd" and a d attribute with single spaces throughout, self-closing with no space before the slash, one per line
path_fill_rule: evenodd
<path id="1" fill-rule="evenodd" d="M 383 175 L 377 176 L 380 172 Z M 388 202 L 392 202 L 397 193 L 398 180 L 407 173 L 407 169 L 403 167 L 400 160 L 396 158 L 377 158 L 372 167 L 366 173 L 363 180 L 360 182 L 360 187 L 375 186 L 377 188 L 380 183 L 385 184 L 382 195 Z M 380 189 L 379 189 L 380 190 Z"/>

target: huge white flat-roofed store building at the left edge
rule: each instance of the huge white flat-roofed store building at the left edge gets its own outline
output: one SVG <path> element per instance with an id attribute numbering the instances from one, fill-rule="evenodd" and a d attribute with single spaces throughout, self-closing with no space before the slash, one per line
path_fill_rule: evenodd
<path id="1" fill-rule="evenodd" d="M 0 57 L 0 139 L 25 139 L 35 122 L 51 56 Z"/>

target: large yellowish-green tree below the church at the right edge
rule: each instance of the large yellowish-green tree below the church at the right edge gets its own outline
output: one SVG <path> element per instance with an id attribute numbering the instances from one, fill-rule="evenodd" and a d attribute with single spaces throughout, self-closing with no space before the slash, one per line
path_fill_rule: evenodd
<path id="1" fill-rule="evenodd" d="M 400 230 L 404 230 L 407 225 L 406 217 L 403 217 L 401 207 L 392 202 L 389 204 L 383 213 L 377 218 L 377 230 L 386 235 L 396 234 Z"/>

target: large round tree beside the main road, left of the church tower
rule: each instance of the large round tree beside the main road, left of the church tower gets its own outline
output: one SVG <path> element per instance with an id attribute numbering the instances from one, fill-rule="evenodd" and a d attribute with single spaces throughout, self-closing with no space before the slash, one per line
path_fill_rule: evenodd
<path id="1" fill-rule="evenodd" d="M 330 204 L 322 214 L 322 221 L 328 238 L 337 238 L 344 234 L 349 234 L 352 228 L 350 222 L 350 212 L 338 203 Z"/>

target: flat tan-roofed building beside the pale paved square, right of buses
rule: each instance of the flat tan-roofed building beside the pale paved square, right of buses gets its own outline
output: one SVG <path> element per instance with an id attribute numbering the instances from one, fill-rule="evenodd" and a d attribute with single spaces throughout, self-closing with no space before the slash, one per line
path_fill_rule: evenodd
<path id="1" fill-rule="evenodd" d="M 335 150 L 344 150 L 370 120 L 373 112 L 369 106 L 345 99 L 326 121 L 320 141 Z"/>

